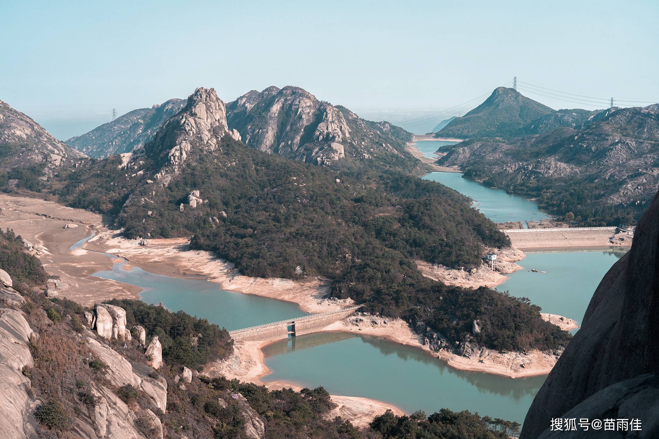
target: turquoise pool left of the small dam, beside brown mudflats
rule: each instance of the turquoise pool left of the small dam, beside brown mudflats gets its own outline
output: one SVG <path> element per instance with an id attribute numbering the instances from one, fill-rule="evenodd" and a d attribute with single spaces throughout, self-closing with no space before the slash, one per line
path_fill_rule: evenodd
<path id="1" fill-rule="evenodd" d="M 222 290 L 208 280 L 179 279 L 139 267 L 125 270 L 124 266 L 118 263 L 111 271 L 96 272 L 94 276 L 144 288 L 140 299 L 146 303 L 162 303 L 170 311 L 183 310 L 227 330 L 308 315 L 295 303 Z"/>

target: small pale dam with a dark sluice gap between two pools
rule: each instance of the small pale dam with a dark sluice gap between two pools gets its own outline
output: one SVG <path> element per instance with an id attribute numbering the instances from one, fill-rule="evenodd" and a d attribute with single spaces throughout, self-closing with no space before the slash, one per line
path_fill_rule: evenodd
<path id="1" fill-rule="evenodd" d="M 320 331 L 329 324 L 352 315 L 362 306 L 364 305 L 329 311 L 329 313 L 306 315 L 297 319 L 260 324 L 258 326 L 251 326 L 250 328 L 230 331 L 229 334 L 236 342 L 273 342 L 288 338 L 289 334 L 296 336 Z"/>

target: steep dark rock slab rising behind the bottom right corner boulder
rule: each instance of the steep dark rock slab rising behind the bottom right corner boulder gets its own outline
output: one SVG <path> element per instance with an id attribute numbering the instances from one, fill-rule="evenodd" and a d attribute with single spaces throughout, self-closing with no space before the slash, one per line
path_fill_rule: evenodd
<path id="1" fill-rule="evenodd" d="M 552 418 L 563 416 L 600 390 L 642 374 L 659 373 L 658 251 L 659 198 L 655 196 L 635 230 L 631 250 L 600 282 L 581 329 L 536 395 L 522 439 L 537 438 Z M 639 398 L 644 398 L 641 393 Z M 611 405 L 616 401 L 611 400 Z"/>

